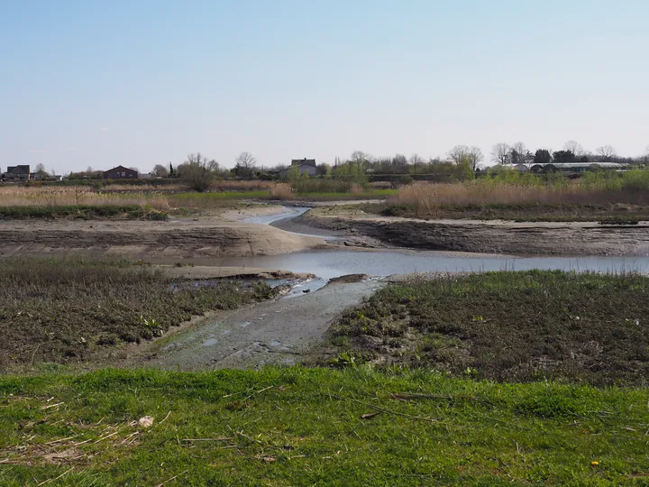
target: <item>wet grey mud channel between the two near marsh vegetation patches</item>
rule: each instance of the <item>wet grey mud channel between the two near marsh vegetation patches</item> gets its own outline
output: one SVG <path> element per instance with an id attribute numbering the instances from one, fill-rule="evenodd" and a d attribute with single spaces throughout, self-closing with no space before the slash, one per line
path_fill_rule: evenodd
<path id="1" fill-rule="evenodd" d="M 300 298 L 224 312 L 161 338 L 129 363 L 184 371 L 301 363 L 310 360 L 335 317 L 382 286 L 329 284 Z"/>

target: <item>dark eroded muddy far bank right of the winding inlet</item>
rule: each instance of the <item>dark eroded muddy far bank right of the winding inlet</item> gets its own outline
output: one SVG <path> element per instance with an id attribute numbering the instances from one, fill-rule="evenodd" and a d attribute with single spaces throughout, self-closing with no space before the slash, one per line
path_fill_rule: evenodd
<path id="1" fill-rule="evenodd" d="M 469 253 L 514 255 L 647 255 L 649 225 L 515 223 L 337 214 L 316 208 L 291 222 L 337 234 L 369 237 L 383 245 Z"/>

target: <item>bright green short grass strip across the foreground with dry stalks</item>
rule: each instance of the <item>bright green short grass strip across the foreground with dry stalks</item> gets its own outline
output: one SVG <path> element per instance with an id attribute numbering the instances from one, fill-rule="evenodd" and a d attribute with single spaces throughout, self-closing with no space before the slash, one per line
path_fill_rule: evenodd
<path id="1" fill-rule="evenodd" d="M 646 485 L 648 400 L 369 366 L 0 377 L 0 483 Z"/>

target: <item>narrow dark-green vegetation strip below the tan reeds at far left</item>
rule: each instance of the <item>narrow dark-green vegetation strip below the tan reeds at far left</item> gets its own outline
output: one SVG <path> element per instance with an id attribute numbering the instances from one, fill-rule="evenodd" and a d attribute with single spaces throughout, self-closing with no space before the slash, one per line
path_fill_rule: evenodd
<path id="1" fill-rule="evenodd" d="M 23 218 L 80 218 L 93 219 L 128 219 L 128 220 L 166 220 L 167 214 L 158 210 L 138 206 L 84 206 L 72 205 L 62 207 L 0 207 L 0 219 Z"/>

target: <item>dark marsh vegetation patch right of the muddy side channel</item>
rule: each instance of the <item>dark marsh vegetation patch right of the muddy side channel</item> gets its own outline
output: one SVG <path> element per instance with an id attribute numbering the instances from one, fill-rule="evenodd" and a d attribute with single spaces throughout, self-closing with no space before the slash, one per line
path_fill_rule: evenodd
<path id="1" fill-rule="evenodd" d="M 332 327 L 353 358 L 498 381 L 645 385 L 649 277 L 488 272 L 379 290 Z"/>

